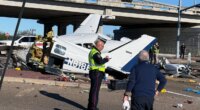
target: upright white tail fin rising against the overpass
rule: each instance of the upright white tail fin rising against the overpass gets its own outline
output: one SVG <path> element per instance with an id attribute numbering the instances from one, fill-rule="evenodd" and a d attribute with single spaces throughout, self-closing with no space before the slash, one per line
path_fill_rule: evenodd
<path id="1" fill-rule="evenodd" d="M 101 19 L 101 15 L 98 14 L 90 14 L 76 29 L 74 34 L 80 33 L 96 33 L 99 27 L 99 22 Z"/>

